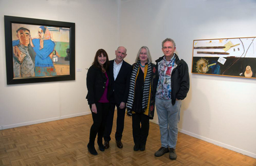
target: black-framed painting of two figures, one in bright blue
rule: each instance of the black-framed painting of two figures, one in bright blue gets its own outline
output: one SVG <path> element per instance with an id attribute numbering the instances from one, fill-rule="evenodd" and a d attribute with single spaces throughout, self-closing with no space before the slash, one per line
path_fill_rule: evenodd
<path id="1" fill-rule="evenodd" d="M 75 80 L 75 23 L 5 16 L 7 84 Z"/>

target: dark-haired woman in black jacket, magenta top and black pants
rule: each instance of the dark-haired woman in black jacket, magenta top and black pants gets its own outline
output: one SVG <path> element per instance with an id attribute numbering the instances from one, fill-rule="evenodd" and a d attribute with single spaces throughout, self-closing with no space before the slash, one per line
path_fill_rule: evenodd
<path id="1" fill-rule="evenodd" d="M 98 134 L 98 146 L 100 151 L 104 151 L 102 144 L 103 131 L 106 122 L 106 115 L 109 112 L 110 104 L 107 98 L 108 86 L 109 86 L 109 57 L 103 50 L 99 49 L 96 52 L 92 66 L 87 73 L 87 100 L 90 105 L 93 117 L 93 125 L 90 130 L 90 140 L 87 145 L 88 151 L 97 155 L 97 151 L 94 148 L 94 141 Z"/>

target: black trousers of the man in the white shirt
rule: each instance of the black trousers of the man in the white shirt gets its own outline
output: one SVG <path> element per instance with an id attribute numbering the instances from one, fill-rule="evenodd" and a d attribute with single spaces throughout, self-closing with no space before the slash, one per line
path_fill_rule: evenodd
<path id="1" fill-rule="evenodd" d="M 110 111 L 108 117 L 106 117 L 106 128 L 104 132 L 104 140 L 110 141 L 110 134 L 112 132 L 113 119 L 115 113 L 115 106 L 117 107 L 117 120 L 116 120 L 116 140 L 122 139 L 123 127 L 124 127 L 124 115 L 125 115 L 125 107 L 123 109 L 119 108 L 119 105 L 114 103 L 110 103 Z"/>

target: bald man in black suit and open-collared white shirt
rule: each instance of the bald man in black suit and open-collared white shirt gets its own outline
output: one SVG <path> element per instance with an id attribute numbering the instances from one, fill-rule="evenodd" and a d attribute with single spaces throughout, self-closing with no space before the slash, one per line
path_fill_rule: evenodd
<path id="1" fill-rule="evenodd" d="M 116 122 L 116 144 L 118 148 L 122 148 L 121 142 L 125 107 L 129 93 L 130 78 L 132 73 L 132 65 L 125 62 L 123 59 L 126 57 L 126 49 L 119 46 L 115 51 L 116 58 L 110 61 L 110 85 L 109 85 L 109 100 L 110 111 L 106 117 L 106 128 L 104 132 L 104 148 L 109 148 L 109 141 L 111 140 L 110 134 L 113 126 L 113 118 L 115 106 L 117 107 L 117 122 Z"/>

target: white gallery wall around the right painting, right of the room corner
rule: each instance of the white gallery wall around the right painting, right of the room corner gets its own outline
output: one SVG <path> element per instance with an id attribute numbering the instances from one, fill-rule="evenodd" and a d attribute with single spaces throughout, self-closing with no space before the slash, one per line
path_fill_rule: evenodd
<path id="1" fill-rule="evenodd" d="M 190 90 L 182 101 L 180 131 L 256 158 L 256 79 L 191 74 L 193 40 L 256 37 L 256 1 L 121 2 L 119 40 L 126 60 L 133 62 L 142 45 L 158 59 L 169 37 L 188 64 Z"/>

